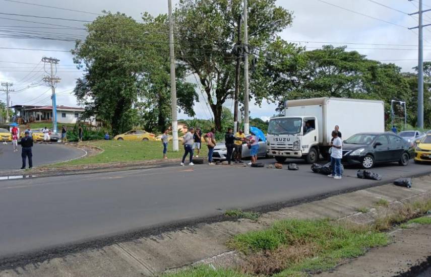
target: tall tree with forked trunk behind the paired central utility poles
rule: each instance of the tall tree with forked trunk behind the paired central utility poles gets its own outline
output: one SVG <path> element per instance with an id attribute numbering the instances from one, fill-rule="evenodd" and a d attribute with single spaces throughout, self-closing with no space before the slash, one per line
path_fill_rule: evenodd
<path id="1" fill-rule="evenodd" d="M 265 48 L 275 33 L 292 22 L 292 14 L 277 7 L 276 0 L 249 1 L 251 51 Z M 214 114 L 215 127 L 222 129 L 223 103 L 232 96 L 235 80 L 237 22 L 242 0 L 181 0 L 175 11 L 177 56 L 191 74 L 196 74 Z M 250 61 L 253 62 L 253 55 Z M 257 87 L 259 88 L 259 87 Z M 251 95 L 265 95 L 251 87 Z"/>

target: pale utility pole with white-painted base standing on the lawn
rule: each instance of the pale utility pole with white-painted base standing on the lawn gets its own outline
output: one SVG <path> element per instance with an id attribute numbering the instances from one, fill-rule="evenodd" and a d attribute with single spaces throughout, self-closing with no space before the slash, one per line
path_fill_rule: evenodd
<path id="1" fill-rule="evenodd" d="M 169 9 L 169 57 L 170 57 L 170 101 L 172 109 L 172 146 L 173 151 L 178 149 L 178 121 L 176 118 L 176 80 L 175 80 L 175 52 L 173 48 L 173 19 L 172 1 L 168 0 Z"/>

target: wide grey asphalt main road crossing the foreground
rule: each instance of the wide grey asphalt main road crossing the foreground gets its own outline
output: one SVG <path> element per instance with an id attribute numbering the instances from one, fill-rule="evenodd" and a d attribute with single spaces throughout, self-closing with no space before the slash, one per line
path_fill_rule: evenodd
<path id="1" fill-rule="evenodd" d="M 288 171 L 175 166 L 0 181 L 0 260 L 172 221 L 221 215 L 221 210 L 375 183 L 356 178 L 356 169 L 347 169 L 342 180 L 334 180 L 311 172 L 310 165 L 299 167 Z M 431 165 L 411 163 L 374 171 L 389 181 L 430 170 Z"/>

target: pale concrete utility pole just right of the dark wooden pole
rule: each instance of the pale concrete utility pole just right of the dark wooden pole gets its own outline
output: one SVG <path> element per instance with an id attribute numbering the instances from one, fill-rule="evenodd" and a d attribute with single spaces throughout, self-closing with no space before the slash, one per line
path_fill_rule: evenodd
<path id="1" fill-rule="evenodd" d="M 244 133 L 250 133 L 250 117 L 249 117 L 249 26 L 248 19 L 248 4 L 244 0 Z"/>

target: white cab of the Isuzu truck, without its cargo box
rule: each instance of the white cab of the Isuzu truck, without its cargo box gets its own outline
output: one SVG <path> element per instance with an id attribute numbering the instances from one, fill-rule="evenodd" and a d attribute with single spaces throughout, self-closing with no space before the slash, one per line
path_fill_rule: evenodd
<path id="1" fill-rule="evenodd" d="M 271 118 L 267 135 L 267 154 L 277 162 L 304 158 L 308 163 L 319 159 L 319 122 L 315 116 Z"/>

